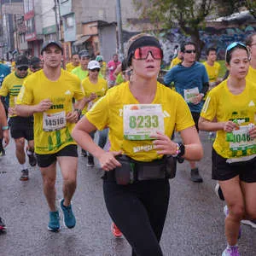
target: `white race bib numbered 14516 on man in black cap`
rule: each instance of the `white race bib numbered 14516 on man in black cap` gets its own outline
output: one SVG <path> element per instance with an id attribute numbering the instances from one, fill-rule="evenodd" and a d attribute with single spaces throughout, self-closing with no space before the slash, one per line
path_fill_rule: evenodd
<path id="1" fill-rule="evenodd" d="M 43 130 L 56 131 L 66 127 L 66 113 L 61 111 L 58 113 L 44 113 L 43 115 Z"/>

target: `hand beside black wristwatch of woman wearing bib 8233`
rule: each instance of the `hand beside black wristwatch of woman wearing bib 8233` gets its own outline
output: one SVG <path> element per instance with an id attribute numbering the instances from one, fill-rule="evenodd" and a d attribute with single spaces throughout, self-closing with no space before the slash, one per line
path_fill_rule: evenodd
<path id="1" fill-rule="evenodd" d="M 157 154 L 177 154 L 177 143 L 173 143 L 169 137 L 157 131 L 156 134 L 152 135 L 156 140 L 154 148 L 159 149 Z"/>

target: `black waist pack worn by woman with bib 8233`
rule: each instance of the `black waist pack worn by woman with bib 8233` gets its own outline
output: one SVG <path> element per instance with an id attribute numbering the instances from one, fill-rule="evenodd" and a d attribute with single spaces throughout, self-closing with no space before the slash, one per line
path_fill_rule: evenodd
<path id="1" fill-rule="evenodd" d="M 173 178 L 176 175 L 177 159 L 172 155 L 165 155 L 161 160 L 142 162 L 122 154 L 117 156 L 116 160 L 122 166 L 115 168 L 114 176 L 116 183 L 121 185 L 135 181 Z"/>

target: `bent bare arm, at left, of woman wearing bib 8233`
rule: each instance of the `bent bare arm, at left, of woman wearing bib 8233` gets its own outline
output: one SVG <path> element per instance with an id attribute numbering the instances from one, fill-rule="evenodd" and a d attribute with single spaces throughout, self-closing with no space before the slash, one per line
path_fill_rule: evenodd
<path id="1" fill-rule="evenodd" d="M 106 152 L 100 148 L 90 137 L 90 132 L 96 131 L 96 126 L 92 125 L 88 119 L 84 116 L 79 120 L 79 123 L 74 127 L 72 131 L 73 139 L 79 143 L 79 145 L 85 150 L 93 154 L 105 171 L 113 170 L 116 166 L 120 166 L 118 160 L 114 157 L 121 152 Z"/>

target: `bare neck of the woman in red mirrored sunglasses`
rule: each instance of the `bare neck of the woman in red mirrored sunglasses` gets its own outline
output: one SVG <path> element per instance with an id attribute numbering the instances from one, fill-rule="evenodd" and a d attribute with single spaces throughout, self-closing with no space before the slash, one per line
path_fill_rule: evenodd
<path id="1" fill-rule="evenodd" d="M 142 104 L 149 104 L 153 102 L 157 79 L 143 79 L 134 75 L 132 82 L 130 82 L 130 90 L 132 95 Z"/>

